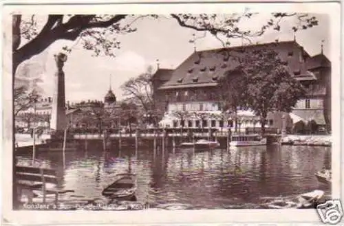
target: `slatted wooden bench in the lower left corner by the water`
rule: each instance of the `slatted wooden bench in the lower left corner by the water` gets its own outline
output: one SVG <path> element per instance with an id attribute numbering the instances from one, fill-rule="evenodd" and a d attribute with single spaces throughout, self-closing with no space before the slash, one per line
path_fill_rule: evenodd
<path id="1" fill-rule="evenodd" d="M 19 199 L 23 190 L 28 190 L 29 203 L 32 203 L 33 191 L 41 191 L 43 194 L 43 203 L 46 201 L 47 194 L 55 195 L 55 205 L 58 205 L 58 194 L 74 192 L 74 190 L 61 190 L 58 188 L 47 188 L 47 183 L 58 185 L 56 177 L 57 170 L 50 168 L 37 168 L 32 166 L 16 166 L 16 183 L 19 192 Z"/>

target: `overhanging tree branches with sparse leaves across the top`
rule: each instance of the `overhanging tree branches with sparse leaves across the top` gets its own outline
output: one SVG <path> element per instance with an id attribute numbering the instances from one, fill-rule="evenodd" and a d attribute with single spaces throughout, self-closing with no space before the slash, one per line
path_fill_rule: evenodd
<path id="1" fill-rule="evenodd" d="M 318 24 L 314 16 L 298 13 L 273 13 L 271 19 L 261 25 L 257 31 L 243 30 L 240 23 L 255 20 L 257 14 L 169 14 L 168 19 L 175 20 L 180 26 L 195 31 L 207 32 L 220 41 L 224 38 L 250 38 L 261 36 L 266 30 L 280 30 L 280 23 L 288 17 L 296 17 L 294 31 L 307 29 Z M 45 23 L 39 26 L 39 16 L 22 16 L 15 14 L 12 19 L 12 54 L 13 74 L 19 64 L 40 54 L 55 41 L 64 39 L 80 42 L 85 49 L 94 52 L 95 56 L 104 54 L 114 56 L 114 49 L 120 48 L 118 35 L 136 32 L 134 23 L 140 19 L 158 19 L 155 14 L 50 14 Z M 228 43 L 227 43 L 228 44 Z M 65 47 L 70 52 L 70 47 Z"/>

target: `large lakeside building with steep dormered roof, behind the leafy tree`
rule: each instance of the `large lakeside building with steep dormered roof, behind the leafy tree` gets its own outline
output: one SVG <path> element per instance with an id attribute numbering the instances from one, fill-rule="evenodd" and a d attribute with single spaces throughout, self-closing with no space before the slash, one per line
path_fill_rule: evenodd
<path id="1" fill-rule="evenodd" d="M 267 127 L 281 129 L 285 123 L 288 129 L 292 129 L 297 122 L 307 124 L 314 121 L 319 129 L 330 128 L 331 63 L 322 51 L 319 55 L 310 56 L 296 41 L 231 47 L 226 51 L 241 51 L 244 48 L 275 50 L 294 77 L 308 89 L 308 95 L 299 100 L 292 113 L 269 113 Z M 235 127 L 233 118 L 224 120 L 214 116 L 221 114 L 223 104 L 219 99 L 218 81 L 220 78 L 233 76 L 238 65 L 237 62 L 228 60 L 222 50 L 224 49 L 194 52 L 176 69 L 158 69 L 152 78 L 153 97 L 158 109 L 166 112 L 162 124 L 199 127 L 202 124 L 200 118 L 181 120 L 171 115 L 175 111 L 186 111 L 208 113 L 208 117 L 202 119 L 207 121 L 203 123 L 206 127 Z M 239 122 L 241 127 L 260 126 L 252 113 L 239 111 L 239 114 L 244 119 L 244 122 Z"/>

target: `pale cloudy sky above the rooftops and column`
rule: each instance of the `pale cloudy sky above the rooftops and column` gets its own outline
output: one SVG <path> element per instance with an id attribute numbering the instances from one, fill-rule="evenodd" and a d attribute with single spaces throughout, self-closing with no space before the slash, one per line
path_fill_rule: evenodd
<path id="1" fill-rule="evenodd" d="M 240 27 L 250 30 L 259 30 L 266 23 L 270 14 L 259 14 L 254 20 L 243 21 Z M 288 19 L 281 24 L 281 31 L 269 30 L 259 38 L 252 38 L 252 43 L 269 43 L 275 41 L 292 41 L 294 35 L 297 43 L 302 45 L 311 56 L 321 52 L 323 40 L 324 54 L 330 59 L 329 21 L 325 14 L 314 14 L 319 20 L 319 25 L 308 30 L 301 30 L 295 34 L 291 31 L 294 19 Z M 45 23 L 46 16 L 40 18 Z M 253 22 L 253 23 L 252 23 Z M 54 54 L 63 46 L 72 47 L 64 66 L 66 100 L 78 102 L 80 100 L 103 100 L 110 86 L 118 100 L 123 98 L 121 84 L 131 77 L 138 76 L 146 71 L 147 67 L 174 69 L 193 53 L 194 45 L 189 43 L 195 33 L 197 50 L 222 47 L 216 38 L 204 32 L 195 32 L 185 27 L 180 27 L 175 20 L 163 16 L 162 19 L 143 19 L 133 24 L 138 30 L 131 34 L 118 36 L 121 42 L 120 49 L 116 49 L 115 58 L 108 56 L 92 56 L 93 53 L 83 49 L 80 43 L 70 41 L 56 41 L 45 52 L 32 57 L 23 65 L 28 64 L 29 72 L 26 77 L 39 77 L 42 82 L 43 96 L 51 96 L 53 89 L 53 76 L 56 71 Z M 241 45 L 241 39 L 230 40 L 232 46 Z M 331 60 L 331 59 L 330 59 Z M 20 71 L 20 69 L 19 69 Z"/>

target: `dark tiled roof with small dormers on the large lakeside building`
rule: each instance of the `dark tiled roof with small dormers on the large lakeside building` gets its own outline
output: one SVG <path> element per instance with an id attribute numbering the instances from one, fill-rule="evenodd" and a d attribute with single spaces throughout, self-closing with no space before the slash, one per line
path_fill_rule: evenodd
<path id="1" fill-rule="evenodd" d="M 226 61 L 226 52 L 233 51 L 233 54 L 243 54 L 242 50 L 248 51 L 258 49 L 274 49 L 279 53 L 283 62 L 288 63 L 290 70 L 295 74 L 305 74 L 305 67 L 301 67 L 299 55 L 302 52 L 305 58 L 310 56 L 302 47 L 294 41 L 265 43 L 259 45 L 246 45 L 222 49 L 211 49 L 194 52 L 171 74 L 171 79 L 162 85 L 163 87 L 179 87 L 185 84 L 213 83 L 222 78 L 227 71 L 232 71 L 238 66 L 235 60 Z M 241 52 L 240 52 L 241 50 Z M 215 78 L 215 79 L 214 79 Z"/>

